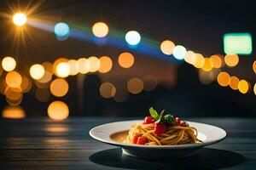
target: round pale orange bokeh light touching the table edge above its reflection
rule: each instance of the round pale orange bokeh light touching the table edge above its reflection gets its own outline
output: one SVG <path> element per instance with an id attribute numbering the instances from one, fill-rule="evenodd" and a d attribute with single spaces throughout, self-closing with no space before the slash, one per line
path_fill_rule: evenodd
<path id="1" fill-rule="evenodd" d="M 60 100 L 54 101 L 49 104 L 47 112 L 49 118 L 56 121 L 67 119 L 69 115 L 68 106 Z"/>

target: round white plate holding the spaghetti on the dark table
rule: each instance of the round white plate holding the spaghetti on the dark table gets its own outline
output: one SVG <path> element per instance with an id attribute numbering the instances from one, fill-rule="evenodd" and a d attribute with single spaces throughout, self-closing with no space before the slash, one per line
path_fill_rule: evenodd
<path id="1" fill-rule="evenodd" d="M 223 140 L 226 136 L 224 129 L 212 125 L 189 122 L 190 127 L 195 127 L 198 131 L 198 139 L 203 141 L 200 144 L 179 144 L 179 145 L 138 145 L 125 144 L 114 141 L 110 138 L 113 133 L 119 133 L 129 130 L 132 124 L 142 122 L 125 121 L 125 122 L 111 122 L 101 126 L 94 127 L 90 130 L 90 136 L 103 143 L 119 146 L 123 149 L 123 153 L 128 156 L 135 156 L 147 159 L 163 159 L 171 157 L 185 157 L 193 156 L 197 151 L 206 145 L 215 144 Z"/>

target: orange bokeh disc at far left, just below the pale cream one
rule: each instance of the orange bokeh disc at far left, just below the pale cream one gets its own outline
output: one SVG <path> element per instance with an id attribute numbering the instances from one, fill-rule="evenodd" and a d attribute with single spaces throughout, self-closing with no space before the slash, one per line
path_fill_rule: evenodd
<path id="1" fill-rule="evenodd" d="M 20 88 L 22 77 L 19 72 L 11 71 L 6 75 L 5 82 L 11 88 Z"/>

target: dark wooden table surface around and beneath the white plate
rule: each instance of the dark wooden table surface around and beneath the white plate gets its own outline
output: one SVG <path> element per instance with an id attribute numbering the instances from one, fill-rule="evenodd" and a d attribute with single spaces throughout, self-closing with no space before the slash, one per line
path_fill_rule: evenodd
<path id="1" fill-rule="evenodd" d="M 131 119 L 131 118 L 130 118 Z M 227 138 L 183 159 L 148 161 L 91 139 L 91 127 L 129 118 L 0 120 L 0 169 L 256 169 L 255 118 L 191 118 L 222 127 Z"/>

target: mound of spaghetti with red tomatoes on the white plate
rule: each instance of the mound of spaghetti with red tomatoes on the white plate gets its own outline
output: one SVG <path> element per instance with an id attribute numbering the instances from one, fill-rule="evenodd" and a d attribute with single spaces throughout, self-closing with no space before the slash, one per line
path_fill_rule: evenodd
<path id="1" fill-rule="evenodd" d="M 151 109 L 151 108 L 150 108 Z M 153 108 L 152 108 L 153 109 Z M 126 143 L 145 144 L 145 145 L 176 145 L 176 144 L 195 144 L 200 143 L 197 139 L 197 130 L 195 127 L 189 127 L 187 122 L 181 122 L 176 119 L 164 119 L 167 114 L 160 116 L 146 116 L 144 122 L 131 126 Z M 167 117 L 167 116 L 166 116 Z"/>

